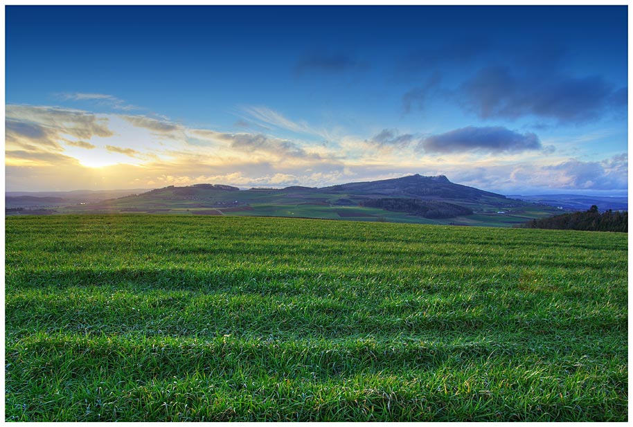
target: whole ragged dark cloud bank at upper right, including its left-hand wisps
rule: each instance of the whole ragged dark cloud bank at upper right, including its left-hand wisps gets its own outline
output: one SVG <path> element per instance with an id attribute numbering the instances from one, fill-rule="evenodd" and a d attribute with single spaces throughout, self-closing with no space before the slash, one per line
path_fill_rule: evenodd
<path id="1" fill-rule="evenodd" d="M 457 60 L 455 52 L 462 51 Z M 413 107 L 423 109 L 428 98 L 439 93 L 482 119 L 533 116 L 576 125 L 626 108 L 627 87 L 616 86 L 603 75 L 571 73 L 564 68 L 568 57 L 566 48 L 546 44 L 520 53 L 467 40 L 427 48 L 403 60 L 409 69 L 427 77 L 424 84 L 403 94 L 402 106 L 407 113 Z M 440 92 L 438 75 L 465 64 L 469 65 L 465 71 L 476 71 Z"/>

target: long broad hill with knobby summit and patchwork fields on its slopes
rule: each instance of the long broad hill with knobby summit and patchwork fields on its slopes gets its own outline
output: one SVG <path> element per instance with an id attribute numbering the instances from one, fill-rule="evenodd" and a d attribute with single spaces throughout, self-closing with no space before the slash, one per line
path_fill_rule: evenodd
<path id="1" fill-rule="evenodd" d="M 186 187 L 170 185 L 116 199 L 75 203 L 56 208 L 55 212 L 257 215 L 512 226 L 529 219 L 555 215 L 560 210 L 452 183 L 443 175 L 416 174 L 323 188 L 292 185 L 240 190 L 231 185 L 211 183 Z M 24 215 L 29 212 L 10 213 Z"/>

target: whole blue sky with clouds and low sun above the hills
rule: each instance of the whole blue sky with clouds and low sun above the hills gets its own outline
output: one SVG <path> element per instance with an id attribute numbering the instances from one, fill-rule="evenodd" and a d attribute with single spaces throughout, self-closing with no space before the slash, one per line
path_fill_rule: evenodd
<path id="1" fill-rule="evenodd" d="M 627 6 L 6 6 L 6 190 L 626 195 L 627 60 Z"/>

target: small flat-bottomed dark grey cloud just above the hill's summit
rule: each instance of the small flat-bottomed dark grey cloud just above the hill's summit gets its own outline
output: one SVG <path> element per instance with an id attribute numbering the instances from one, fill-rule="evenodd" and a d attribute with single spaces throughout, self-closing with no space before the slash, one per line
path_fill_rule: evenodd
<path id="1" fill-rule="evenodd" d="M 541 141 L 531 132 L 519 134 L 505 127 L 462 127 L 420 141 L 418 149 L 427 153 L 456 153 L 479 150 L 483 152 L 523 152 L 541 149 Z"/>

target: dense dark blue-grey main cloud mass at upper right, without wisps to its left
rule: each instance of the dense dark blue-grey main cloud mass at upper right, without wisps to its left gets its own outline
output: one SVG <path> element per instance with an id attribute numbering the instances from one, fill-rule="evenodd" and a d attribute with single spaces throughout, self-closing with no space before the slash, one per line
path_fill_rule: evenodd
<path id="1" fill-rule="evenodd" d="M 535 69 L 488 66 L 463 82 L 455 96 L 483 119 L 536 116 L 580 123 L 603 116 L 612 102 L 621 103 L 623 93 L 614 91 L 600 75 L 577 78 Z"/>

